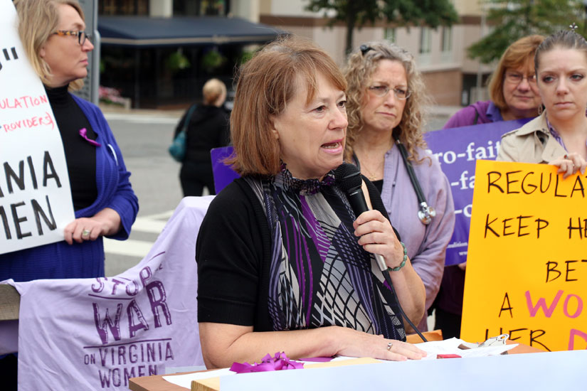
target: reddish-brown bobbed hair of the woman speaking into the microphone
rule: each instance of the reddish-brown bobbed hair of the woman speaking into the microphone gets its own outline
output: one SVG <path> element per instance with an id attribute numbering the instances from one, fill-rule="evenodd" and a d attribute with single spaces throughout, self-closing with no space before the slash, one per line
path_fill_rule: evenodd
<path id="1" fill-rule="evenodd" d="M 280 145 L 271 132 L 273 119 L 303 90 L 298 80 L 306 82 L 307 102 L 314 99 L 317 74 L 339 90 L 347 90 L 334 60 L 314 43 L 295 36 L 278 38 L 240 68 L 231 113 L 235 154 L 227 160 L 237 173 L 273 176 L 280 171 Z"/>

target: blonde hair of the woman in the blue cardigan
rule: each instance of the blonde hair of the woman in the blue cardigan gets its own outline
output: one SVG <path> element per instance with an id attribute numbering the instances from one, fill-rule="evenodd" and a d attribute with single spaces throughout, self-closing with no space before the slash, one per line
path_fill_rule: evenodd
<path id="1" fill-rule="evenodd" d="M 14 0 L 18 14 L 18 35 L 33 70 L 41 77 L 43 84 L 47 84 L 53 75 L 51 67 L 39 53 L 51 34 L 57 30 L 60 4 L 72 6 L 85 21 L 77 0 Z M 69 85 L 71 90 L 79 90 L 82 86 L 83 79 L 74 80 Z"/>

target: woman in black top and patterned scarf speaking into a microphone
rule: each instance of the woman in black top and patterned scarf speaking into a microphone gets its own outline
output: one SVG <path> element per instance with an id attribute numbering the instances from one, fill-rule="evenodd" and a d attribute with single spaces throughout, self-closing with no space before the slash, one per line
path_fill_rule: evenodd
<path id="1" fill-rule="evenodd" d="M 381 206 L 357 217 L 335 186 L 346 87 L 334 61 L 300 38 L 271 43 L 240 70 L 231 163 L 241 178 L 213 200 L 196 245 L 208 368 L 277 351 L 290 358 L 425 355 L 402 342 L 399 305 L 421 319 L 425 291 L 381 198 L 363 183 L 367 203 Z"/>

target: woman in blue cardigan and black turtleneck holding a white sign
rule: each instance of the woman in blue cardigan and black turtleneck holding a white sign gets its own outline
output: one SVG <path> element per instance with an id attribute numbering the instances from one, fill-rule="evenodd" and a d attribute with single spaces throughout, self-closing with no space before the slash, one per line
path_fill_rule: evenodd
<path id="1" fill-rule="evenodd" d="M 81 87 L 94 48 L 83 11 L 76 0 L 14 0 L 14 6 L 63 141 L 75 220 L 62 242 L 0 255 L 0 281 L 104 277 L 102 237 L 127 239 L 139 204 L 102 112 L 68 92 Z"/>

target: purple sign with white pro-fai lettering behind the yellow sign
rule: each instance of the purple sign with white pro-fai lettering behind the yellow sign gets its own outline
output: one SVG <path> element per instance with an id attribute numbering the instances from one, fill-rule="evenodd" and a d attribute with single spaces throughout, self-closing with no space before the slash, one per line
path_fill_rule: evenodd
<path id="1" fill-rule="evenodd" d="M 502 134 L 518 129 L 528 121 L 491 122 L 425 134 L 428 149 L 440 162 L 440 168 L 453 189 L 455 232 L 446 249 L 447 266 L 467 260 L 475 162 L 477 159 L 495 160 Z"/>

